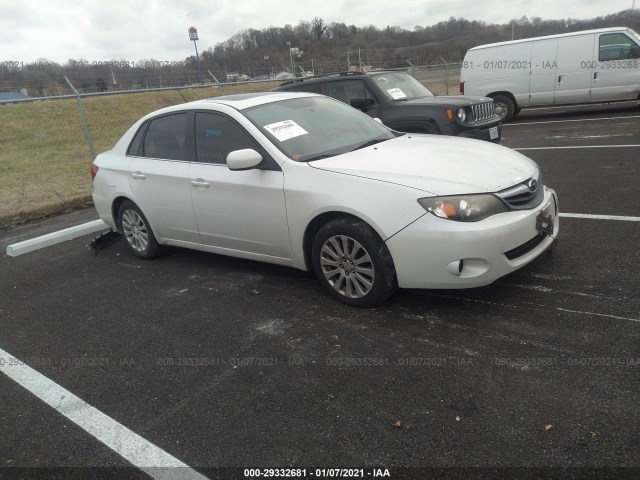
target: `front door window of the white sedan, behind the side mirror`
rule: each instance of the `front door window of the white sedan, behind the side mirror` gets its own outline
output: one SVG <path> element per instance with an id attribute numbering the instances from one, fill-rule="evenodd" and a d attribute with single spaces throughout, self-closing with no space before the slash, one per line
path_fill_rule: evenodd
<path id="1" fill-rule="evenodd" d="M 217 113 L 196 113 L 196 155 L 202 163 L 226 164 L 234 150 L 252 148 L 266 154 L 242 126 Z"/>

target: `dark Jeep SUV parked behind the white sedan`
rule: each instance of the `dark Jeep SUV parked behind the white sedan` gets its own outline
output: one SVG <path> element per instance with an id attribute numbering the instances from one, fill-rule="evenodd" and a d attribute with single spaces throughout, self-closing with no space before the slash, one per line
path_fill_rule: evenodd
<path id="1" fill-rule="evenodd" d="M 435 133 L 500 143 L 502 126 L 490 98 L 438 97 L 404 72 L 345 72 L 300 78 L 273 91 L 321 93 L 409 133 Z"/>

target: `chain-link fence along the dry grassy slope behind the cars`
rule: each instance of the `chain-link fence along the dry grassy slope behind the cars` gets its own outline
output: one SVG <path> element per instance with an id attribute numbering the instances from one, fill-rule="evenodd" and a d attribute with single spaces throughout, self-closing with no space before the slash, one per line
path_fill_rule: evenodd
<path id="1" fill-rule="evenodd" d="M 460 64 L 403 70 L 437 95 L 458 93 Z M 90 143 L 96 153 L 109 150 L 143 115 L 218 95 L 268 91 L 280 84 L 248 81 L 37 99 L 0 97 L 0 228 L 91 205 Z"/>

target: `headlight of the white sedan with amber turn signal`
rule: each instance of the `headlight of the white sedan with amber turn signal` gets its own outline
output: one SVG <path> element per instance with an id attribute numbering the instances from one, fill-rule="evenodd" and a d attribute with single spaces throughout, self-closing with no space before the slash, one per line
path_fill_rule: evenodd
<path id="1" fill-rule="evenodd" d="M 509 211 L 502 200 L 489 194 L 426 197 L 419 198 L 418 203 L 436 217 L 458 222 L 477 222 Z"/>

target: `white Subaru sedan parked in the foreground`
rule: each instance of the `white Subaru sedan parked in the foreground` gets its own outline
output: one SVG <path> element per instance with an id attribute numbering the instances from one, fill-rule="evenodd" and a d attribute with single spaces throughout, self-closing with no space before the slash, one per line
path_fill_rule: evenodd
<path id="1" fill-rule="evenodd" d="M 242 94 L 153 112 L 92 165 L 130 251 L 314 271 L 344 303 L 492 283 L 557 238 L 558 199 L 508 148 L 406 134 L 332 98 Z"/>

